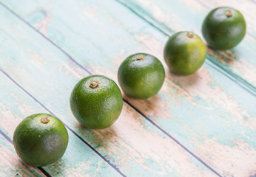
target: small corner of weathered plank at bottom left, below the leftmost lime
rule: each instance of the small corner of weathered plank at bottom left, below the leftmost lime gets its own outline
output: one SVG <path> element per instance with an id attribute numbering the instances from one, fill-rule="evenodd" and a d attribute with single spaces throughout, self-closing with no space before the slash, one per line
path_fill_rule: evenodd
<path id="1" fill-rule="evenodd" d="M 18 159 L 13 145 L 0 134 L 0 176 L 44 176 L 40 170 Z"/>

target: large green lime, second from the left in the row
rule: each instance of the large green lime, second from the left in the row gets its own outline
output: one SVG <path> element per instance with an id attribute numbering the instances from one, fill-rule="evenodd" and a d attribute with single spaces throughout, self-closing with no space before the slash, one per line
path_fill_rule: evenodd
<path id="1" fill-rule="evenodd" d="M 92 82 L 98 82 L 94 89 Z M 103 75 L 81 79 L 70 96 L 73 115 L 86 128 L 103 129 L 112 125 L 121 114 L 123 97 L 116 83 Z"/>

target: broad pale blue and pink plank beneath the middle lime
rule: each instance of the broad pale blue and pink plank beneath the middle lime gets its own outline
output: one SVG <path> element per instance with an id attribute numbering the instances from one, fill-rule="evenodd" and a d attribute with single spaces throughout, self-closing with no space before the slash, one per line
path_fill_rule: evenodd
<path id="1" fill-rule="evenodd" d="M 11 7 L 90 72 L 115 79 L 119 64 L 133 52 L 150 52 L 163 62 L 166 35 L 127 8 L 115 2 L 62 2 Z M 38 23 L 33 19 L 40 14 L 45 16 Z M 157 96 L 129 102 L 223 176 L 255 173 L 255 97 L 211 62 L 189 77 L 166 72 Z"/>

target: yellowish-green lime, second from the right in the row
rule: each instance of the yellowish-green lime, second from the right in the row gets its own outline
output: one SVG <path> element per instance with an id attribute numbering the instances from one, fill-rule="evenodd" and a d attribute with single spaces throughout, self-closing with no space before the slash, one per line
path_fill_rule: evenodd
<path id="1" fill-rule="evenodd" d="M 175 74 L 189 75 L 196 72 L 205 58 L 206 46 L 193 32 L 175 33 L 164 47 L 164 60 Z"/>

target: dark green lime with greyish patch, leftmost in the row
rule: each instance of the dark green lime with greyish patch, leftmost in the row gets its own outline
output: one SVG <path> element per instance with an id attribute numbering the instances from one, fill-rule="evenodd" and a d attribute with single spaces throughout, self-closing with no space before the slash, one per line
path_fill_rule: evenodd
<path id="1" fill-rule="evenodd" d="M 47 117 L 49 122 L 42 123 Z M 41 167 L 58 161 L 68 144 L 68 133 L 63 123 L 50 114 L 33 114 L 23 119 L 13 134 L 13 145 L 18 156 L 27 164 Z"/>

